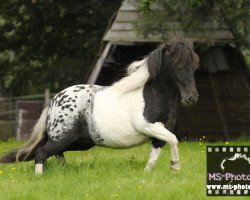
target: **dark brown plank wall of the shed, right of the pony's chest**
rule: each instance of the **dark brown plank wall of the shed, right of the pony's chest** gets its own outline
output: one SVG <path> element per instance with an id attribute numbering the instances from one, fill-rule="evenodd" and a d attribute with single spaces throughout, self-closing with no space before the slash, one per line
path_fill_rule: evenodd
<path id="1" fill-rule="evenodd" d="M 224 71 L 213 75 L 216 93 L 227 122 L 231 138 L 250 133 L 250 93 L 242 71 Z M 243 75 L 244 76 L 244 75 Z M 213 98 L 208 73 L 197 73 L 200 94 L 197 105 L 184 108 L 178 105 L 177 132 L 181 138 L 208 140 L 224 139 L 222 122 Z"/>

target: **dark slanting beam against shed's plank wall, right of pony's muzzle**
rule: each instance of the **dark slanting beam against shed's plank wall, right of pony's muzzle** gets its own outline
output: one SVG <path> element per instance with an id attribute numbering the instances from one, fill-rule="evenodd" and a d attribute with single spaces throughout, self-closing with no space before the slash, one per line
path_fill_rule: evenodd
<path id="1" fill-rule="evenodd" d="M 214 101 L 215 101 L 215 104 L 216 104 L 216 107 L 217 107 L 217 111 L 218 111 L 218 114 L 219 114 L 219 118 L 220 118 L 221 123 L 222 123 L 223 134 L 224 134 L 225 139 L 226 139 L 226 140 L 229 140 L 229 139 L 230 139 L 230 136 L 229 136 L 229 134 L 228 134 L 227 120 L 226 120 L 226 118 L 224 117 L 223 110 L 222 110 L 222 107 L 221 107 L 219 98 L 218 98 L 218 96 L 217 96 L 216 85 L 215 85 L 215 82 L 214 82 L 213 75 L 210 74 L 210 73 L 209 73 L 209 79 L 210 79 L 210 83 L 211 83 L 211 86 L 212 86 Z"/>

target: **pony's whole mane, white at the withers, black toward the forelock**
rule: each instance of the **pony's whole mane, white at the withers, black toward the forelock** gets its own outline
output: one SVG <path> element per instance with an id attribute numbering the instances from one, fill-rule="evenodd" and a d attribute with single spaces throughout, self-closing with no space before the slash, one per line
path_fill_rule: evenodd
<path id="1" fill-rule="evenodd" d="M 140 61 L 131 63 L 127 68 L 127 76 L 115 82 L 112 88 L 120 93 L 136 90 L 148 80 L 155 79 L 161 73 L 163 56 L 172 64 L 198 67 L 199 57 L 188 42 L 178 41 L 166 43 L 155 49 Z"/>

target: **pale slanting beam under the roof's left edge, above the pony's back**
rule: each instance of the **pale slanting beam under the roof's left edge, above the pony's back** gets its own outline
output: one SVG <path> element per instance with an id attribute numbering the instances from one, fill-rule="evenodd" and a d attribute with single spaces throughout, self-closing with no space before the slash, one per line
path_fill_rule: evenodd
<path id="1" fill-rule="evenodd" d="M 89 76 L 89 79 L 87 81 L 88 84 L 94 84 L 97 80 L 97 77 L 102 69 L 102 65 L 103 63 L 105 62 L 105 59 L 107 58 L 108 56 L 108 53 L 109 53 L 109 50 L 111 48 L 111 43 L 108 42 L 107 45 L 105 46 L 101 56 L 98 58 L 90 76 Z"/>

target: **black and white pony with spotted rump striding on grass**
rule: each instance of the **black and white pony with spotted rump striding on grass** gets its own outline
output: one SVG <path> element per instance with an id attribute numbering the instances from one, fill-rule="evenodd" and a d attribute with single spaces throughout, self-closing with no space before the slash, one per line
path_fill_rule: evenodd
<path id="1" fill-rule="evenodd" d="M 180 170 L 176 136 L 178 96 L 185 106 L 198 100 L 194 72 L 199 58 L 186 42 L 163 44 L 128 67 L 128 75 L 112 86 L 74 85 L 59 92 L 46 106 L 24 147 L 0 162 L 35 159 L 43 173 L 47 158 L 94 146 L 130 148 L 151 140 L 145 170 L 151 170 L 166 142 L 171 168 Z"/>

